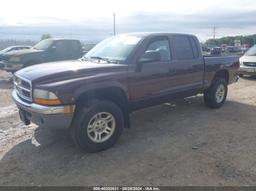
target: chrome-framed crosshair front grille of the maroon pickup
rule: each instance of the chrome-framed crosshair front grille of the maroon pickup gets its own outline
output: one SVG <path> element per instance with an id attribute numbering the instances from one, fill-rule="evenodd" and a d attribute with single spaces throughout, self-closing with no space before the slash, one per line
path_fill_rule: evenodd
<path id="1" fill-rule="evenodd" d="M 13 77 L 14 89 L 18 96 L 26 101 L 32 101 L 32 85 L 29 80 L 15 75 Z"/>

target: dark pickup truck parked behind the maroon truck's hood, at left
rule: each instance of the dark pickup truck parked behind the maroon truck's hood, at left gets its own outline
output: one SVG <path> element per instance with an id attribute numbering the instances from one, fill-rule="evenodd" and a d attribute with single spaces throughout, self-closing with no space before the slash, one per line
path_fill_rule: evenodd
<path id="1" fill-rule="evenodd" d="M 74 60 L 83 56 L 79 40 L 46 39 L 28 50 L 6 53 L 3 70 L 15 72 L 21 68 L 44 62 Z"/>

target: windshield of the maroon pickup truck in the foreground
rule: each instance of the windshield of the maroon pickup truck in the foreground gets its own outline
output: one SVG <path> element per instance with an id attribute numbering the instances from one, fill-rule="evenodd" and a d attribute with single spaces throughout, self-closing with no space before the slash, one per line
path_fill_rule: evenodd
<path id="1" fill-rule="evenodd" d="M 97 44 L 83 58 L 120 63 L 127 59 L 140 40 L 140 37 L 129 35 L 110 37 Z"/>

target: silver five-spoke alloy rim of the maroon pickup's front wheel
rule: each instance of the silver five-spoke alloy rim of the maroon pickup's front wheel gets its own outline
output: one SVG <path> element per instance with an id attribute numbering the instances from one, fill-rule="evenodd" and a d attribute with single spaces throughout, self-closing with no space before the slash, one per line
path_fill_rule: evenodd
<path id="1" fill-rule="evenodd" d="M 89 121 L 87 127 L 88 137 L 95 143 L 108 140 L 114 133 L 116 120 L 111 113 L 96 113 Z"/>

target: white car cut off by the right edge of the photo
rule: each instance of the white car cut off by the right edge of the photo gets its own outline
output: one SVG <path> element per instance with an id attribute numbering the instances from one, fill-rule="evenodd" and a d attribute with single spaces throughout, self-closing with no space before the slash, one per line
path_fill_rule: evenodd
<path id="1" fill-rule="evenodd" d="M 239 75 L 256 75 L 256 45 L 240 58 Z"/>

